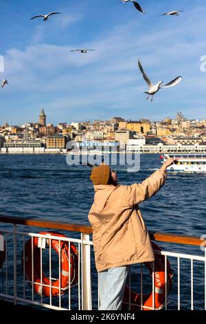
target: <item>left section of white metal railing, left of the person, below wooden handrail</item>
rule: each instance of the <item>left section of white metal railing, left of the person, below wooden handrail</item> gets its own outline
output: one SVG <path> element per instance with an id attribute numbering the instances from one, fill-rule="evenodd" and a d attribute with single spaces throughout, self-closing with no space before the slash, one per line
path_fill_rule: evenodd
<path id="1" fill-rule="evenodd" d="M 71 310 L 71 278 L 70 278 L 70 267 L 71 267 L 71 254 L 69 253 L 69 274 L 68 274 L 68 285 L 65 288 L 60 287 L 60 280 L 58 285 L 58 296 L 52 296 L 52 289 L 54 286 L 52 283 L 56 281 L 56 278 L 52 276 L 52 240 L 58 241 L 59 250 L 60 243 L 67 242 L 70 251 L 70 244 L 74 243 L 78 249 L 78 282 L 74 286 L 78 290 L 76 292 L 76 309 L 78 310 L 91 310 L 91 251 L 90 247 L 93 244 L 92 241 L 89 240 L 89 234 L 80 233 L 80 239 L 71 239 L 69 237 L 55 236 L 55 234 L 36 234 L 32 232 L 20 232 L 16 230 L 16 225 L 13 225 L 13 230 L 1 230 L 1 234 L 4 236 L 5 240 L 5 261 L 3 264 L 3 270 L 1 271 L 1 280 L 3 280 L 3 289 L 0 290 L 0 296 L 4 298 L 8 298 L 14 301 L 14 305 L 18 301 L 33 304 L 36 306 L 43 306 L 53 310 Z M 21 236 L 21 239 L 17 236 Z M 26 269 L 25 269 L 25 242 L 27 239 L 32 239 L 32 280 L 26 278 Z M 34 278 L 34 270 L 35 270 L 35 260 L 34 260 L 34 238 L 38 238 L 38 248 L 40 249 L 40 262 L 41 262 L 41 278 L 40 282 L 36 282 Z M 49 283 L 43 283 L 43 250 L 45 250 L 45 244 L 43 240 L 47 240 L 49 242 L 49 255 L 47 255 L 47 263 L 49 265 Z M 20 270 L 19 261 L 17 255 L 17 245 L 18 250 L 20 248 L 22 252 L 22 269 Z M 19 245 L 21 247 L 19 247 Z M 13 247 L 13 249 L 12 249 Z M 10 254 L 13 253 L 13 256 Z M 61 263 L 60 263 L 61 254 L 58 253 L 58 278 L 61 276 Z M 13 262 L 12 262 L 13 261 Z M 13 264 L 12 264 L 13 263 Z M 19 267 L 19 269 L 18 269 Z M 12 269 L 13 268 L 13 269 Z M 13 271 L 11 271 L 11 269 Z M 12 274 L 11 274 L 12 272 Z M 19 279 L 19 272 L 21 272 Z M 21 283 L 19 283 L 21 281 Z M 28 284 L 28 287 L 26 287 Z M 34 291 L 34 286 L 39 285 L 41 287 L 39 296 Z M 13 291 L 12 291 L 13 287 Z M 50 296 L 45 297 L 41 294 L 41 291 L 44 287 L 49 288 Z M 65 294 L 62 296 L 61 292 L 65 290 Z M 12 293 L 11 293 L 12 291 Z M 27 296 L 30 294 L 30 298 Z M 37 297 L 37 298 L 36 298 Z M 62 298 L 67 298 L 67 305 L 62 305 Z M 36 300 L 38 299 L 38 301 Z M 53 301 L 56 301 L 57 305 L 54 305 Z M 46 300 L 46 301 L 45 301 Z M 58 303 L 57 303 L 58 300 Z"/>

